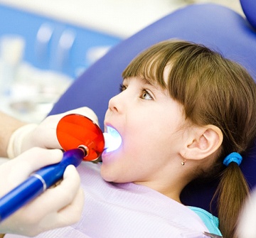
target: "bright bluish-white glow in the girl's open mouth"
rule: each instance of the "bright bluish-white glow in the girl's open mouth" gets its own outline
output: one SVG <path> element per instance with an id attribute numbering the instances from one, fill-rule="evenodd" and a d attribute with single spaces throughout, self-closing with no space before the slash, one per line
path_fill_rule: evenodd
<path id="1" fill-rule="evenodd" d="M 103 133 L 106 152 L 115 151 L 122 144 L 122 138 L 118 131 L 107 126 L 107 133 Z"/>

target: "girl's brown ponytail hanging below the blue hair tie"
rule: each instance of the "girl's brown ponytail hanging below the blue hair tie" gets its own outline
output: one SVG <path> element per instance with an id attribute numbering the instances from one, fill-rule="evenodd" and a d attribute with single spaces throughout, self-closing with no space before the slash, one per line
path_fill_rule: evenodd
<path id="1" fill-rule="evenodd" d="M 249 187 L 240 170 L 240 163 L 237 161 L 229 161 L 229 163 L 225 163 L 225 160 L 223 163 L 227 168 L 225 168 L 221 175 L 220 183 L 213 198 L 216 196 L 218 198 L 219 228 L 223 237 L 235 238 L 237 237 L 236 227 L 238 225 L 238 216 L 240 215 L 240 210 L 249 194 Z"/>

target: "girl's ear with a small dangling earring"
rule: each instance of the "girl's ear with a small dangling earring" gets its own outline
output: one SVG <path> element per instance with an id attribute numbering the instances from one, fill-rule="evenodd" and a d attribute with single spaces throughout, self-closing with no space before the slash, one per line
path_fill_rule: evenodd
<path id="1" fill-rule="evenodd" d="M 188 141 L 181 151 L 184 159 L 203 159 L 220 148 L 223 133 L 217 126 L 196 127 L 190 131 Z"/>

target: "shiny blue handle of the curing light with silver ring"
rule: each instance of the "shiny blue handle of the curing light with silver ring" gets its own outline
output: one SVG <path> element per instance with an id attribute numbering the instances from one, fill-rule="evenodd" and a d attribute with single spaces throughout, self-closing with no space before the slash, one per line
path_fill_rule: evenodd
<path id="1" fill-rule="evenodd" d="M 27 180 L 0 198 L 0 222 L 63 178 L 65 168 L 69 165 L 79 166 L 85 151 L 81 148 L 63 153 L 60 163 L 41 168 Z"/>

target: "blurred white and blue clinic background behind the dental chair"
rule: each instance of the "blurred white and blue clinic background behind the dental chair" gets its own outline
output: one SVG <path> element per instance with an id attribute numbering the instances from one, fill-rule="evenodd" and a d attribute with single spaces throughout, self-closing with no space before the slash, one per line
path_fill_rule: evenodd
<path id="1" fill-rule="evenodd" d="M 188 4 L 239 0 L 0 0 L 0 110 L 41 121 L 95 60 Z"/>

